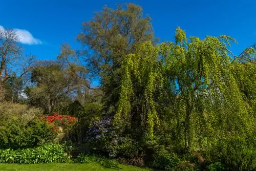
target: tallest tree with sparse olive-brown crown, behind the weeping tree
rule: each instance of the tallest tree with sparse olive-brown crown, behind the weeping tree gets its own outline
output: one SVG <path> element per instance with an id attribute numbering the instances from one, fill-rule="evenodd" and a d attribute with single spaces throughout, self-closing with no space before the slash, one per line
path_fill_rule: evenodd
<path id="1" fill-rule="evenodd" d="M 87 68 L 100 76 L 106 103 L 117 104 L 121 62 L 132 52 L 133 45 L 155 41 L 150 20 L 148 16 L 143 18 L 141 7 L 127 4 L 117 9 L 104 7 L 93 20 L 82 24 L 77 39 L 88 49 L 81 53 L 87 51 Z"/>

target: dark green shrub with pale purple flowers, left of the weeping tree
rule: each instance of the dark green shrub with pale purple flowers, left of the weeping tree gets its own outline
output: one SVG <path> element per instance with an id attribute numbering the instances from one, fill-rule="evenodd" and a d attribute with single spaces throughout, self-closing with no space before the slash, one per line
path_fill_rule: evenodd
<path id="1" fill-rule="evenodd" d="M 108 155 L 112 158 L 134 158 L 142 151 L 136 140 L 130 134 L 123 134 L 120 127 L 113 126 L 111 117 L 103 117 L 90 126 L 87 133 L 87 142 L 94 152 Z"/>

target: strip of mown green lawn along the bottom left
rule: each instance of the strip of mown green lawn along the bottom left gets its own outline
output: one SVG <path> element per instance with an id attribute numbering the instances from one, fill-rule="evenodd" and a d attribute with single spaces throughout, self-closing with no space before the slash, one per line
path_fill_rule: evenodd
<path id="1" fill-rule="evenodd" d="M 49 171 L 65 171 L 65 170 L 134 170 L 134 171 L 144 171 L 144 170 L 151 170 L 147 168 L 140 168 L 135 166 L 129 165 L 119 165 L 120 168 L 113 169 L 113 168 L 103 168 L 99 163 L 96 162 L 89 162 L 86 164 L 68 164 L 68 163 L 53 163 L 53 164 L 0 164 L 0 170 L 18 170 L 18 171 L 36 171 L 36 170 L 49 170 Z"/>

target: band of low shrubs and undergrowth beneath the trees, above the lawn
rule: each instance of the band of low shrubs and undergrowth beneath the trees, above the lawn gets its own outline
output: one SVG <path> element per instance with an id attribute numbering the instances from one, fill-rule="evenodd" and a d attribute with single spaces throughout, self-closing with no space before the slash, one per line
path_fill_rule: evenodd
<path id="1" fill-rule="evenodd" d="M 79 144 L 65 140 L 76 140 L 80 124 L 70 124 L 72 117 L 53 116 L 48 117 L 50 122 L 49 119 L 42 120 L 44 116 L 26 121 L 16 118 L 2 122 L 0 163 L 98 162 L 108 168 L 118 168 L 117 163 L 123 163 L 166 170 L 253 170 L 256 166 L 255 137 L 244 139 L 230 136 L 219 140 L 209 149 L 178 152 L 171 146 L 161 145 L 163 137 L 156 137 L 141 146 L 131 136 L 119 135 L 110 120 L 103 118 L 92 119 L 93 124 L 88 125 L 86 132 L 86 143 Z M 52 121 L 52 118 L 69 120 L 59 122 L 58 119 Z M 59 126 L 65 123 L 65 126 Z M 63 132 L 69 132 L 69 135 Z"/>

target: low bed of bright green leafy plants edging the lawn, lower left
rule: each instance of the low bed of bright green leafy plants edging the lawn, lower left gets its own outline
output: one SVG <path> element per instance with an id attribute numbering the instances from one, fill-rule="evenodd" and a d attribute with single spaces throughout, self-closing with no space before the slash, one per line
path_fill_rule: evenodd
<path id="1" fill-rule="evenodd" d="M 0 163 L 36 164 L 70 161 L 70 156 L 59 144 L 46 144 L 17 150 L 0 149 Z"/>

